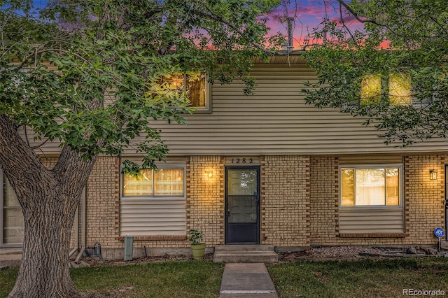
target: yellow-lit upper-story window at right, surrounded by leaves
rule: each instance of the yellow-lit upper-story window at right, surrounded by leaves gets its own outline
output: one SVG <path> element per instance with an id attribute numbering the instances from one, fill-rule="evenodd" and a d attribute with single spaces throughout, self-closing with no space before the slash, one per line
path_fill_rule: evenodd
<path id="1" fill-rule="evenodd" d="M 390 73 L 386 78 L 379 74 L 369 74 L 361 81 L 361 103 L 379 104 L 381 96 L 388 97 L 393 106 L 412 104 L 411 77 L 409 73 Z"/>

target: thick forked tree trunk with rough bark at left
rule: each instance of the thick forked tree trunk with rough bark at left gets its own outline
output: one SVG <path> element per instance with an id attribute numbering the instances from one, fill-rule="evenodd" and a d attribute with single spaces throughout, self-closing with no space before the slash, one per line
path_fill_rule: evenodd
<path id="1" fill-rule="evenodd" d="M 78 292 L 69 271 L 71 227 L 80 194 L 96 156 L 83 160 L 62 148 L 53 169 L 0 114 L 0 166 L 22 206 L 25 222 L 22 263 L 9 297 L 94 297 Z"/>

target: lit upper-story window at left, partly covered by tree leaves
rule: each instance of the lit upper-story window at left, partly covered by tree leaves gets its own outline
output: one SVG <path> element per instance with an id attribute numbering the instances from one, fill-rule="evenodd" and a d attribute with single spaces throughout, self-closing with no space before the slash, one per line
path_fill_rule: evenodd
<path id="1" fill-rule="evenodd" d="M 207 76 L 201 72 L 173 73 L 165 77 L 163 82 L 169 83 L 170 89 L 187 92 L 188 106 L 197 108 L 196 111 L 210 111 L 209 85 Z"/>

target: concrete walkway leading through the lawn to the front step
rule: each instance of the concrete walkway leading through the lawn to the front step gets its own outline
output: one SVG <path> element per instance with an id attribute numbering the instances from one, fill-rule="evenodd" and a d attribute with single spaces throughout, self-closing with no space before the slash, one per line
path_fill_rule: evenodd
<path id="1" fill-rule="evenodd" d="M 278 297 L 274 283 L 263 263 L 225 264 L 220 298 Z"/>

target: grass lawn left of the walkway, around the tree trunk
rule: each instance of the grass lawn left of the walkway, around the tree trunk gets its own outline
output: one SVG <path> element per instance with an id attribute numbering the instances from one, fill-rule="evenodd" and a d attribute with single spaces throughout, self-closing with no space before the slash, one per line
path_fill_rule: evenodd
<path id="1" fill-rule="evenodd" d="M 81 292 L 109 293 L 112 297 L 218 297 L 224 264 L 195 261 L 164 261 L 125 266 L 71 269 Z M 13 289 L 18 269 L 0 270 L 0 297 Z"/>

